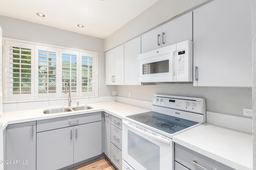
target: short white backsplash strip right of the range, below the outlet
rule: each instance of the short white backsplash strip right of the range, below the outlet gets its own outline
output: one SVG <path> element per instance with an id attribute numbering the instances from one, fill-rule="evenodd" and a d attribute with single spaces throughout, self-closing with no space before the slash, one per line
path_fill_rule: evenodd
<path id="1" fill-rule="evenodd" d="M 252 119 L 206 111 L 206 122 L 228 127 L 238 131 L 252 133 Z"/>

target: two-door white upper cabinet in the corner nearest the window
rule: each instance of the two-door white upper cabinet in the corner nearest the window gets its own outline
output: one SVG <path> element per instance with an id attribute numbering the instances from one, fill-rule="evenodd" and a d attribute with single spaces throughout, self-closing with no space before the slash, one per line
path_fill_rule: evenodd
<path id="1" fill-rule="evenodd" d="M 124 44 L 106 52 L 106 85 L 124 85 Z"/>

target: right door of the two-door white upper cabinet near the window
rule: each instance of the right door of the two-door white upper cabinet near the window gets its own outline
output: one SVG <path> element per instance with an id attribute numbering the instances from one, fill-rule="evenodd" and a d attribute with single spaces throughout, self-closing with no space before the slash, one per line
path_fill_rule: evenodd
<path id="1" fill-rule="evenodd" d="M 114 48 L 114 84 L 124 85 L 124 44 Z"/>

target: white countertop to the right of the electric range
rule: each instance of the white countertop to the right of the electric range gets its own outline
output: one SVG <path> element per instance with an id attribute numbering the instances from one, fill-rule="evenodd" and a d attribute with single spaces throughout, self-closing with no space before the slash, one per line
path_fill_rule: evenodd
<path id="1" fill-rule="evenodd" d="M 172 140 L 236 170 L 252 170 L 252 135 L 205 123 Z"/>

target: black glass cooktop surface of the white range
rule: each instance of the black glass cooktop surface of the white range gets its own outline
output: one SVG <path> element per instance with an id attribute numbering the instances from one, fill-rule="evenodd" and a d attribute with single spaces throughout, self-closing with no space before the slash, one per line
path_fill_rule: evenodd
<path id="1" fill-rule="evenodd" d="M 139 113 L 126 117 L 170 134 L 198 124 L 198 122 L 165 115 L 154 111 Z"/>

